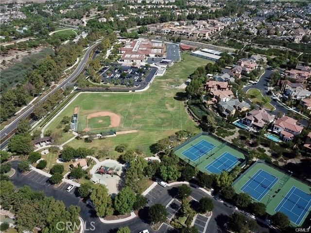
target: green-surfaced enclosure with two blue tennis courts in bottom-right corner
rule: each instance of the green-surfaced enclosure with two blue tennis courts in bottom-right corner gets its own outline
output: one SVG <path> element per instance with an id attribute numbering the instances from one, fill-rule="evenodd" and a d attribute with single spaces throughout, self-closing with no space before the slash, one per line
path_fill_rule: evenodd
<path id="1" fill-rule="evenodd" d="M 267 213 L 286 214 L 294 226 L 300 226 L 311 210 L 311 187 L 264 164 L 255 163 L 233 184 L 237 193 L 248 193 L 253 200 L 266 204 Z"/>

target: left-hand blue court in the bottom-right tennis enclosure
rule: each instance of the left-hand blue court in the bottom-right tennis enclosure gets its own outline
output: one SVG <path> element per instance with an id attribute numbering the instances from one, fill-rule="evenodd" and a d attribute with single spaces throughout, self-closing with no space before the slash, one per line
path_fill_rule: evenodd
<path id="1" fill-rule="evenodd" d="M 240 190 L 260 201 L 277 181 L 277 177 L 260 169 L 253 177 L 250 177 Z"/>

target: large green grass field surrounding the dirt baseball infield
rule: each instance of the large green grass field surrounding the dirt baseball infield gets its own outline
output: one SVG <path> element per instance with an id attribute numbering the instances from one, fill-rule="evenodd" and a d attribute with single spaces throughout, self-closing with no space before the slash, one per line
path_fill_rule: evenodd
<path id="1" fill-rule="evenodd" d="M 185 61 L 175 63 L 166 71 L 164 76 L 155 77 L 150 88 L 144 92 L 81 93 L 52 121 L 47 130 L 55 131 L 64 116 L 72 116 L 75 106 L 79 106 L 78 127 L 81 130 L 86 128 L 86 116 L 88 114 L 101 111 L 112 112 L 121 117 L 119 127 L 114 130 L 138 129 L 138 133 L 122 134 L 109 137 L 107 140 L 94 140 L 93 143 L 75 139 L 67 145 L 74 148 L 102 149 L 109 147 L 111 149 L 110 157 L 116 158 L 120 154 L 114 151 L 114 148 L 120 143 L 126 142 L 131 148 L 142 145 L 144 153 L 151 156 L 149 147 L 157 140 L 170 136 L 181 129 L 194 128 L 195 126 L 186 113 L 183 102 L 176 98 L 176 93 L 184 92 L 184 90 L 167 88 L 166 83 L 183 83 L 197 67 L 205 66 L 209 61 L 187 53 L 181 53 L 181 56 Z M 198 133 L 198 130 L 194 131 L 194 133 Z"/>

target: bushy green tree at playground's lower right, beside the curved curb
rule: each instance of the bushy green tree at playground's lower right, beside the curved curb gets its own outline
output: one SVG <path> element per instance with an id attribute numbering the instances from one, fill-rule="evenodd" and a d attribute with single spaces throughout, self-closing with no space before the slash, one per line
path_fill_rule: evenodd
<path id="1" fill-rule="evenodd" d="M 133 209 L 135 200 L 135 193 L 129 187 L 122 188 L 118 196 L 115 198 L 115 209 L 121 215 L 129 213 Z"/>

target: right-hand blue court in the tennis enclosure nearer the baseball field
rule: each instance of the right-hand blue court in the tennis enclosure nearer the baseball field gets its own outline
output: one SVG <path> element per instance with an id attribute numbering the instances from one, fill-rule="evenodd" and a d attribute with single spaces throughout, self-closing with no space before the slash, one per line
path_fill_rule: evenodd
<path id="1" fill-rule="evenodd" d="M 211 173 L 219 174 L 223 170 L 229 171 L 231 170 L 236 164 L 239 163 L 239 159 L 229 152 L 223 153 L 221 156 L 216 158 L 213 162 L 205 167 L 205 169 Z"/>

